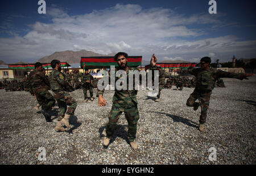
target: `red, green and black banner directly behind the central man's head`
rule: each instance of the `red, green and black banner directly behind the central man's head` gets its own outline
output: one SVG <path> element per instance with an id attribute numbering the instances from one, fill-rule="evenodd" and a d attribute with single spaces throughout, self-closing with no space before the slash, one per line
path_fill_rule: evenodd
<path id="1" fill-rule="evenodd" d="M 130 56 L 127 58 L 127 65 L 130 67 L 138 67 L 141 65 L 142 56 Z M 81 68 L 110 68 L 110 66 L 117 67 L 117 62 L 114 61 L 114 57 L 81 57 Z"/>

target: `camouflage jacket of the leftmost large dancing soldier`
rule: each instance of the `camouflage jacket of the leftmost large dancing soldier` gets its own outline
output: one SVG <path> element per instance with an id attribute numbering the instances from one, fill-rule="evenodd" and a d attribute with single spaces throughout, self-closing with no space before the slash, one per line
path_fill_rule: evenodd
<path id="1" fill-rule="evenodd" d="M 30 87 L 34 93 L 48 91 L 50 89 L 49 80 L 43 71 L 36 71 L 30 80 Z"/>

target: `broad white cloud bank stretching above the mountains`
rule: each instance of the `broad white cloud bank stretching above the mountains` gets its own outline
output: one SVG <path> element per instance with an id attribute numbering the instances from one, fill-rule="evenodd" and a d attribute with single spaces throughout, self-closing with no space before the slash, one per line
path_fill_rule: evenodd
<path id="1" fill-rule="evenodd" d="M 75 16 L 51 6 L 47 15 L 52 23 L 31 24 L 31 31 L 23 37 L 0 38 L 0 59 L 34 62 L 55 51 L 81 49 L 100 54 L 126 51 L 130 55 L 143 55 L 146 60 L 152 53 L 159 59 L 180 57 L 187 61 L 196 61 L 195 58 L 209 53 L 224 59 L 234 53 L 248 57 L 255 54 L 256 41 L 241 41 L 236 36 L 191 40 L 207 33 L 192 28 L 192 24 L 224 25 L 218 16 L 184 16 L 166 8 L 144 10 L 139 5 L 121 4 Z"/>

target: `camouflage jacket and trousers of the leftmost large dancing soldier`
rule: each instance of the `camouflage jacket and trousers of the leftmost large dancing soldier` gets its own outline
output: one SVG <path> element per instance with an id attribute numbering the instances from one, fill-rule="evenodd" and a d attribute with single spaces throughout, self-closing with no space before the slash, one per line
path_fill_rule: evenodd
<path id="1" fill-rule="evenodd" d="M 38 104 L 42 106 L 42 109 L 51 110 L 55 100 L 48 91 L 50 89 L 49 80 L 43 71 L 34 72 L 28 87 L 32 88 L 32 92 L 35 93 L 36 100 L 38 100 Z"/>

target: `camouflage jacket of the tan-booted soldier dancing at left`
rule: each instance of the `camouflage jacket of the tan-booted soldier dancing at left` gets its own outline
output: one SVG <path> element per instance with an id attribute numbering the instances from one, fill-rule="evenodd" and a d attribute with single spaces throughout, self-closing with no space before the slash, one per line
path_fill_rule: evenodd
<path id="1" fill-rule="evenodd" d="M 49 74 L 49 84 L 53 92 L 73 91 L 73 88 L 65 81 L 63 74 L 57 70 Z"/>

